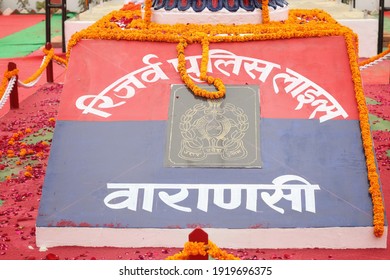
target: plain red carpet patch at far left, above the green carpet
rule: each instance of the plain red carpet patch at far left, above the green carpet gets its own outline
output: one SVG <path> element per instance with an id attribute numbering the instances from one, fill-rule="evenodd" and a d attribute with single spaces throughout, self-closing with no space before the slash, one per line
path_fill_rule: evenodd
<path id="1" fill-rule="evenodd" d="M 0 16 L 0 39 L 44 20 L 43 14 Z"/>

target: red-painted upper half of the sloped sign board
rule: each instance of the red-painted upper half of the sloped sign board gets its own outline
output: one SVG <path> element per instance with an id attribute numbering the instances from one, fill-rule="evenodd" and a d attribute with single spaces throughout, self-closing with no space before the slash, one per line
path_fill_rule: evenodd
<path id="1" fill-rule="evenodd" d="M 229 51 L 235 56 L 216 55 L 211 58 L 211 75 L 221 77 L 226 84 L 259 84 L 262 117 L 308 119 L 315 110 L 316 107 L 310 104 L 296 109 L 299 105 L 298 99 L 304 96 L 299 97 L 298 94 L 294 97 L 292 92 L 285 90 L 289 83 L 283 83 L 282 78 L 276 79 L 277 75 L 286 74 L 286 71 L 289 71 L 287 69 L 291 69 L 335 98 L 347 112 L 348 119 L 357 119 L 349 58 L 343 37 L 211 44 L 210 50 L 215 49 Z M 158 65 L 166 75 L 164 79 L 157 79 L 156 82 L 146 81 L 156 77 L 155 72 L 148 72 L 150 69 L 144 68 L 146 64 L 143 58 L 149 54 L 154 55 L 149 59 L 149 63 Z M 200 45 L 190 45 L 186 49 L 187 58 L 195 56 L 198 56 L 196 68 L 200 66 Z M 80 42 L 72 51 L 62 97 L 66 102 L 60 106 L 58 118 L 80 121 L 166 120 L 170 86 L 183 84 L 170 63 L 176 57 L 176 45 L 170 43 L 106 40 Z M 258 77 L 265 70 L 256 72 L 251 69 L 255 65 L 251 58 L 264 62 L 256 65 L 260 68 L 271 67 L 263 81 Z M 236 72 L 233 68 L 234 59 L 241 63 Z M 142 68 L 144 70 L 140 71 Z M 191 68 L 189 63 L 187 68 Z M 251 71 L 254 78 L 248 73 Z M 136 82 L 125 78 L 129 73 L 135 72 L 138 72 L 135 75 L 137 83 L 141 82 L 143 87 L 134 86 Z M 142 75 L 145 75 L 144 79 Z M 129 94 L 126 87 L 132 87 L 134 92 Z M 276 93 L 275 87 L 279 88 L 279 93 Z M 103 99 L 93 100 L 92 97 L 98 94 L 110 98 L 109 102 L 115 107 L 107 108 L 108 103 L 103 102 Z M 310 99 L 309 95 L 309 92 L 305 92 L 305 98 Z M 84 99 L 81 103 L 84 107 L 79 109 L 75 104 L 83 96 L 90 98 Z M 85 114 L 86 107 L 93 107 L 111 115 L 103 118 L 91 113 Z M 314 118 L 320 116 L 321 113 L 316 113 Z"/>

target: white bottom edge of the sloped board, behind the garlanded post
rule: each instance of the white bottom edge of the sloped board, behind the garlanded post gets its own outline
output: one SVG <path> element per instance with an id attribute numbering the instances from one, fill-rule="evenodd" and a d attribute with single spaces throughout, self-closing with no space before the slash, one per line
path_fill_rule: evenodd
<path id="1" fill-rule="evenodd" d="M 182 248 L 193 229 L 37 227 L 41 248 L 82 247 L 173 247 Z M 204 228 L 221 248 L 263 249 L 368 249 L 386 248 L 387 232 L 375 237 L 373 227 L 216 229 Z"/>

